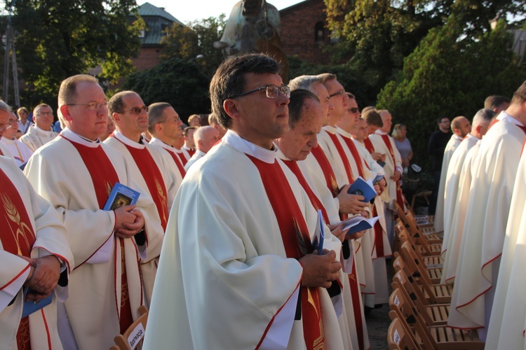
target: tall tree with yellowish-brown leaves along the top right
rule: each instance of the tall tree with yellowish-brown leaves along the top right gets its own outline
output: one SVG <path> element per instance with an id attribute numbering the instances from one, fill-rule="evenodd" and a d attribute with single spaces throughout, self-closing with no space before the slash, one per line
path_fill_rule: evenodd
<path id="1" fill-rule="evenodd" d="M 325 0 L 332 36 L 330 52 L 362 72 L 372 96 L 402 69 L 407 57 L 429 30 L 445 25 L 450 15 L 464 23 L 464 36 L 480 37 L 490 20 L 526 13 L 515 0 Z"/>

